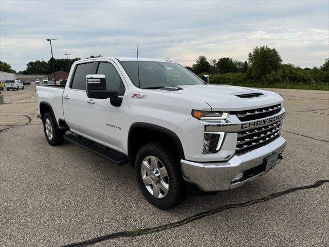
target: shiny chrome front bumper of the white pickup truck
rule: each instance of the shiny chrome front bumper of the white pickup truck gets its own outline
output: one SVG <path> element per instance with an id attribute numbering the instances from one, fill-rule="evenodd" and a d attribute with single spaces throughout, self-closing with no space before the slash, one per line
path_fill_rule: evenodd
<path id="1" fill-rule="evenodd" d="M 280 136 L 263 147 L 241 155 L 234 155 L 225 162 L 197 163 L 181 160 L 180 164 L 184 179 L 197 185 L 201 190 L 228 190 L 265 174 L 264 158 L 275 153 L 281 155 L 285 147 L 286 140 Z M 249 175 L 240 182 L 231 183 L 240 172 L 246 172 Z"/>

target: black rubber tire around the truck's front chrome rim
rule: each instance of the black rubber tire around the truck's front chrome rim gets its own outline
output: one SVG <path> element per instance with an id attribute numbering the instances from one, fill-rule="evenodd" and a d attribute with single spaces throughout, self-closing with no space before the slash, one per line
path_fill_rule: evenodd
<path id="1" fill-rule="evenodd" d="M 141 175 L 141 164 L 145 157 L 152 155 L 165 166 L 169 178 L 169 190 L 165 197 L 156 198 L 145 187 Z M 169 209 L 184 201 L 187 197 L 185 182 L 180 169 L 180 158 L 172 151 L 172 147 L 163 142 L 152 142 L 142 146 L 135 160 L 136 177 L 144 197 L 160 209 Z"/>

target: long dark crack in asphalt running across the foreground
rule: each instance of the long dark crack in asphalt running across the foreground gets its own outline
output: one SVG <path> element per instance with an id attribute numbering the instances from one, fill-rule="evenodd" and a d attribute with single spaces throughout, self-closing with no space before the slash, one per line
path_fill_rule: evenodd
<path id="1" fill-rule="evenodd" d="M 272 199 L 277 198 L 277 197 L 282 197 L 284 195 L 287 195 L 289 193 L 292 193 L 292 192 L 295 192 L 295 191 L 298 191 L 298 190 L 317 188 L 317 187 L 320 187 L 321 185 L 323 185 L 324 183 L 329 183 L 329 180 L 319 180 L 319 181 L 316 181 L 314 184 L 311 184 L 311 185 L 305 185 L 305 186 L 300 186 L 300 187 L 289 188 L 289 189 L 286 189 L 286 190 L 283 190 L 283 191 L 280 191 L 280 192 L 271 193 L 270 195 L 259 198 L 259 199 L 254 199 L 254 200 L 250 200 L 250 201 L 243 202 L 243 203 L 229 204 L 229 205 L 217 207 L 217 208 L 214 208 L 214 209 L 211 209 L 211 210 L 204 211 L 202 213 L 193 215 L 191 217 L 185 218 L 183 220 L 169 223 L 169 224 L 155 226 L 155 227 L 149 227 L 149 228 L 143 228 L 143 229 L 137 229 L 137 230 L 134 230 L 134 231 L 124 231 L 124 232 L 112 233 L 112 234 L 103 235 L 103 236 L 100 236 L 100 237 L 88 239 L 88 240 L 85 240 L 85 241 L 82 241 L 82 242 L 63 245 L 62 247 L 82 247 L 82 246 L 93 245 L 95 243 L 99 243 L 99 242 L 102 242 L 102 241 L 105 241 L 105 240 L 110 240 L 110 239 L 123 238 L 123 237 L 137 237 L 137 236 L 140 236 L 140 235 L 162 232 L 162 231 L 166 231 L 166 230 L 171 229 L 171 228 L 175 228 L 175 227 L 179 227 L 179 226 L 191 223 L 195 220 L 198 220 L 198 219 L 210 216 L 210 215 L 221 213 L 222 211 L 225 211 L 225 210 L 228 210 L 228 209 L 231 209 L 231 208 L 247 207 L 247 206 L 250 206 L 250 205 L 253 205 L 253 204 L 256 204 L 256 203 L 266 202 L 266 201 L 272 200 Z"/>

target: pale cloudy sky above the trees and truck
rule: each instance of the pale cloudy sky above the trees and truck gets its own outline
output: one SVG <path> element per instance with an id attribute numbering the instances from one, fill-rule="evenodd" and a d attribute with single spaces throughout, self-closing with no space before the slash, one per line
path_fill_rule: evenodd
<path id="1" fill-rule="evenodd" d="M 321 66 L 329 58 L 329 1 L 6 1 L 0 0 L 0 60 L 91 55 L 246 61 L 256 46 L 284 63 Z"/>

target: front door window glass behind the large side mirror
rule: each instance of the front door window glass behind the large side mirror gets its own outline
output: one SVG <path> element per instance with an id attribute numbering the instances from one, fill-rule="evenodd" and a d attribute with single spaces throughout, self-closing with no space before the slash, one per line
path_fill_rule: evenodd
<path id="1" fill-rule="evenodd" d="M 124 95 L 125 87 L 117 70 L 111 63 L 100 62 L 98 75 L 105 75 L 106 90 L 117 90 L 119 95 Z"/>

